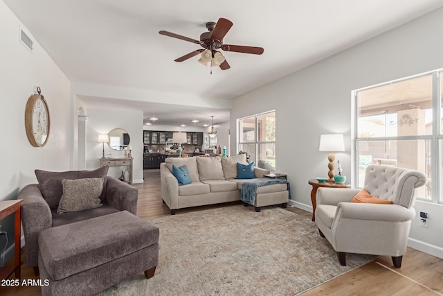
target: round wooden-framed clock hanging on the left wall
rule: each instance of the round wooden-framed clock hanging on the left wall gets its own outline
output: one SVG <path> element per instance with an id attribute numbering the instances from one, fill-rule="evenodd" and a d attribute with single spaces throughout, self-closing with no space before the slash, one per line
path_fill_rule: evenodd
<path id="1" fill-rule="evenodd" d="M 48 105 L 40 94 L 40 87 L 37 87 L 37 92 L 38 94 L 30 96 L 26 103 L 25 128 L 30 144 L 34 147 L 43 147 L 48 141 L 51 121 Z"/>

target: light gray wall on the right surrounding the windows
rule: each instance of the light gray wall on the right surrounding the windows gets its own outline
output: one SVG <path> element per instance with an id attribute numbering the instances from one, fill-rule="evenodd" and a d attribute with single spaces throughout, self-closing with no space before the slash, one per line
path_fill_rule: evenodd
<path id="1" fill-rule="evenodd" d="M 309 179 L 325 176 L 327 153 L 318 152 L 320 134 L 345 134 L 345 153 L 336 153 L 351 177 L 351 91 L 443 67 L 443 10 L 437 10 L 297 71 L 235 100 L 235 119 L 275 109 L 276 169 L 287 173 L 295 204 L 311 210 Z M 429 228 L 413 220 L 409 245 L 443 258 L 443 207 L 417 202 L 428 211 Z"/>

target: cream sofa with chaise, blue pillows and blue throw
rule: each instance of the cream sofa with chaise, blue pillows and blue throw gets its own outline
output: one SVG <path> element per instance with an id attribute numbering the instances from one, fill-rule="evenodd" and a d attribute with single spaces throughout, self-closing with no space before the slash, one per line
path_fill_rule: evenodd
<path id="1" fill-rule="evenodd" d="M 160 165 L 163 202 L 174 215 L 177 209 L 240 200 L 242 184 L 251 179 L 236 179 L 237 162 L 247 164 L 246 155 L 165 159 Z M 179 186 L 177 178 L 172 174 L 173 164 L 177 167 L 186 165 L 192 180 L 191 184 Z M 269 174 L 269 171 L 257 167 L 254 167 L 254 172 L 256 178 Z M 282 204 L 286 207 L 289 199 L 287 188 L 287 184 L 258 187 L 253 204 L 255 211 L 260 211 L 260 207 L 271 204 Z"/>

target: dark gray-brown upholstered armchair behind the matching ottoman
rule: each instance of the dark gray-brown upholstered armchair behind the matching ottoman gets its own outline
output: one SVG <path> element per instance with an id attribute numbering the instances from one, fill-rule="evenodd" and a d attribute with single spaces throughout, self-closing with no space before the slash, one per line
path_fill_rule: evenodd
<path id="1" fill-rule="evenodd" d="M 123 183 L 114 177 L 106 177 L 108 167 L 95 171 L 47 172 L 36 170 L 39 184 L 29 184 L 19 192 L 21 202 L 21 224 L 25 238 L 25 255 L 29 268 L 34 268 L 38 275 L 38 236 L 50 227 L 57 227 L 81 220 L 112 214 L 117 211 L 129 211 L 136 215 L 138 189 Z M 57 213 L 58 202 L 63 194 L 62 180 L 104 177 L 101 207 Z"/>

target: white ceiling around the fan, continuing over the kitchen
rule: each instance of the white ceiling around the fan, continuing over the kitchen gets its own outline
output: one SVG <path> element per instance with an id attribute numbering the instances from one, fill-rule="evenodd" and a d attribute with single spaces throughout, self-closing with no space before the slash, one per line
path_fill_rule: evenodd
<path id="1" fill-rule="evenodd" d="M 441 0 L 4 1 L 71 81 L 213 99 L 241 96 L 443 6 Z M 214 68 L 212 75 L 198 56 L 174 62 L 200 47 L 159 31 L 198 40 L 206 22 L 219 17 L 233 21 L 224 43 L 261 46 L 264 53 L 224 51 L 230 69 Z M 145 116 L 174 118 L 161 124 L 229 118 L 226 109 L 125 101 L 132 104 L 150 112 Z"/>

